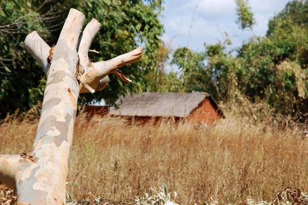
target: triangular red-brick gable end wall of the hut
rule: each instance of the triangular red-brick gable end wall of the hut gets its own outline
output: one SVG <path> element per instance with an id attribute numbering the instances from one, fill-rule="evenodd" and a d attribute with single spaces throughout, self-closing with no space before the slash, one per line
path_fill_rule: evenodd
<path id="1" fill-rule="evenodd" d="M 219 113 L 206 98 L 200 105 L 190 113 L 188 116 L 189 121 L 196 121 L 199 123 L 213 124 L 214 121 L 220 119 Z"/>

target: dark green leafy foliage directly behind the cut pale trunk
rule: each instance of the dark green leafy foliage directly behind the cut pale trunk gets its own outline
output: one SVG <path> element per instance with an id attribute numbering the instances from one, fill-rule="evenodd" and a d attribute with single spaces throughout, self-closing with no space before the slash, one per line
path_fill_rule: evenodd
<path id="1" fill-rule="evenodd" d="M 140 45 L 144 48 L 140 62 L 121 69 L 123 73 L 128 74 L 133 83 L 124 85 L 118 78 L 110 75 L 110 83 L 102 92 L 82 95 L 80 102 L 104 98 L 107 103 L 112 103 L 120 95 L 141 92 L 149 86 L 146 77 L 149 73 L 157 73 L 155 59 L 163 33 L 163 25 L 158 19 L 162 11 L 161 0 L 3 0 L 0 2 L 2 115 L 16 108 L 26 110 L 42 101 L 46 78 L 40 65 L 21 44 L 26 35 L 34 30 L 48 40 L 50 45 L 55 44 L 69 8 L 87 13 L 86 22 L 93 17 L 102 24 L 102 29 L 91 47 L 100 52 L 90 56 L 94 61 L 111 59 Z M 2 29 L 14 24 L 16 19 L 20 19 L 22 27 L 12 27 L 11 31 Z"/>

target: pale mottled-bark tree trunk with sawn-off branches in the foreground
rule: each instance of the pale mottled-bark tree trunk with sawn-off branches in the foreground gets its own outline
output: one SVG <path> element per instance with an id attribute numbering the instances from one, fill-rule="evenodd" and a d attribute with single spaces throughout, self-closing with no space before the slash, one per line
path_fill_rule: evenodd
<path id="1" fill-rule="evenodd" d="M 141 58 L 142 48 L 108 61 L 92 63 L 88 52 L 101 24 L 92 19 L 81 35 L 85 16 L 71 9 L 54 48 L 32 32 L 24 47 L 47 75 L 40 123 L 30 152 L 0 155 L 0 181 L 17 192 L 17 204 L 66 203 L 66 178 L 79 93 L 94 93 L 117 69 Z"/>

